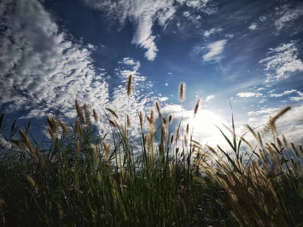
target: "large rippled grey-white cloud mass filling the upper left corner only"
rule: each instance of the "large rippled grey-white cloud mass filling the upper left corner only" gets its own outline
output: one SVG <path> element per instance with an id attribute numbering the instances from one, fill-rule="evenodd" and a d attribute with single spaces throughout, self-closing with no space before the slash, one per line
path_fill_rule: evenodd
<path id="1" fill-rule="evenodd" d="M 2 1 L 0 9 L 0 103 L 7 110 L 31 110 L 35 117 L 53 103 L 107 101 L 104 72 L 91 64 L 91 50 L 60 32 L 40 2 Z"/>

